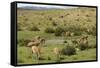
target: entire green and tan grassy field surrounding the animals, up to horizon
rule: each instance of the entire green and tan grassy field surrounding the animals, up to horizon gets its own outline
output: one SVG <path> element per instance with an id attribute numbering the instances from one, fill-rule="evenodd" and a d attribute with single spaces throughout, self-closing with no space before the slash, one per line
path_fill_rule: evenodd
<path id="1" fill-rule="evenodd" d="M 88 35 L 91 48 L 76 51 L 75 55 L 61 55 L 60 62 L 96 60 L 96 9 L 95 8 L 73 8 L 60 10 L 23 10 L 18 9 L 18 36 L 17 36 L 17 62 L 18 64 L 56 63 L 57 58 L 53 48 L 63 49 L 67 45 L 74 46 L 71 42 L 82 35 Z M 34 27 L 35 26 L 35 27 Z M 45 32 L 46 28 L 63 27 L 66 31 L 75 33 L 74 36 L 56 36 Z M 35 30 L 33 29 L 35 28 Z M 89 30 L 89 32 L 87 32 Z M 35 36 L 45 38 L 42 47 L 43 60 L 36 60 L 31 48 L 26 47 L 25 40 Z M 67 43 L 64 43 L 64 41 Z M 93 47 L 92 47 L 93 46 Z"/>

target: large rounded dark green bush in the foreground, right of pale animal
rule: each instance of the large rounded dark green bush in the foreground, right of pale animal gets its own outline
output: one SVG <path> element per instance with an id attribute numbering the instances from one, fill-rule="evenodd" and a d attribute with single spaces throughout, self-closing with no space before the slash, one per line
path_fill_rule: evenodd
<path id="1" fill-rule="evenodd" d="M 76 49 L 73 46 L 68 45 L 61 50 L 61 53 L 63 55 L 68 55 L 68 56 L 74 55 L 74 54 L 76 54 Z"/>

